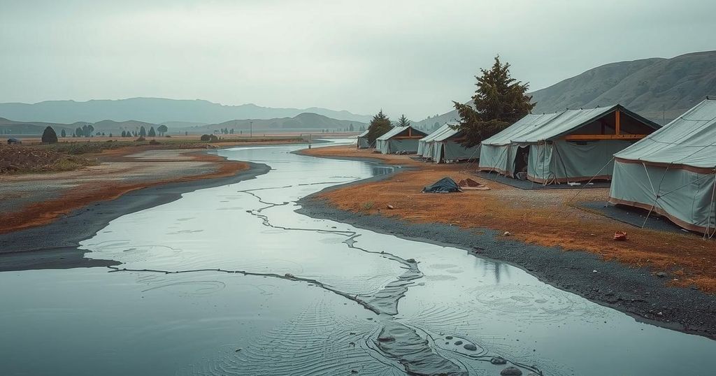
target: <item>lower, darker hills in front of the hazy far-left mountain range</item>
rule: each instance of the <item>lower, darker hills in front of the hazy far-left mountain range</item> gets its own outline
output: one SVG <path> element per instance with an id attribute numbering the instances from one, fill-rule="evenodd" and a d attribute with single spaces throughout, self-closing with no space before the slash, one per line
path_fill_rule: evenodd
<path id="1" fill-rule="evenodd" d="M 86 125 L 87 122 L 74 122 L 72 124 L 58 124 L 56 122 L 18 122 L 0 117 L 0 135 L 41 135 L 44 128 L 52 126 L 59 135 L 64 129 L 67 135 L 77 127 Z M 304 112 L 294 117 L 281 117 L 273 119 L 246 119 L 246 120 L 229 120 L 216 124 L 198 124 L 193 122 L 164 122 L 169 128 L 168 135 L 188 132 L 196 133 L 213 133 L 214 131 L 234 130 L 236 133 L 247 133 L 249 129 L 255 132 L 285 132 L 285 131 L 308 131 L 320 132 L 320 130 L 349 130 L 353 127 L 356 132 L 362 126 L 367 126 L 364 122 L 337 120 L 324 115 Z M 137 120 L 126 120 L 117 122 L 115 120 L 100 120 L 92 123 L 95 128 L 95 134 L 98 132 L 105 135 L 120 135 L 123 130 L 133 131 L 145 127 L 149 131 L 150 127 L 159 126 L 158 123 L 140 122 Z"/>

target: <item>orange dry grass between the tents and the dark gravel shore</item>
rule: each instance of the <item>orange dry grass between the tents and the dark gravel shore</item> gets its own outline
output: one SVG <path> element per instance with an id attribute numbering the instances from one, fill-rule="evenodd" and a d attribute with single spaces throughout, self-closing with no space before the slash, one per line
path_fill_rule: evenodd
<path id="1" fill-rule="evenodd" d="M 306 152 L 317 154 L 316 150 Z M 374 156 L 354 148 L 323 148 L 319 155 Z M 390 163 L 409 158 L 389 156 Z M 415 162 L 415 161 L 412 161 Z M 611 218 L 572 206 L 576 190 L 524 191 L 508 185 L 476 178 L 475 165 L 435 165 L 410 163 L 419 170 L 398 173 L 387 180 L 352 185 L 321 194 L 346 211 L 380 213 L 416 223 L 451 223 L 462 228 L 491 228 L 510 231 L 516 238 L 541 246 L 561 246 L 600 254 L 634 266 L 673 273 L 673 283 L 695 285 L 716 292 L 716 244 L 689 233 L 664 233 L 634 228 Z M 467 170 L 470 168 L 470 170 Z M 455 194 L 422 194 L 422 187 L 449 176 L 458 181 L 473 178 L 492 188 Z M 606 201 L 609 191 L 590 188 L 576 201 Z M 387 209 L 387 205 L 395 207 Z M 629 240 L 612 239 L 615 231 L 627 231 Z"/>

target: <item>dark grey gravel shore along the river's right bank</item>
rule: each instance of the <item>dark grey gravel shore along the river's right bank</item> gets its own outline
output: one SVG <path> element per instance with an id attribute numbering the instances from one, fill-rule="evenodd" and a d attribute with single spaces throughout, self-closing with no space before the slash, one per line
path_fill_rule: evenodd
<path id="1" fill-rule="evenodd" d="M 376 176 L 372 180 L 383 178 L 387 176 Z M 345 185 L 324 191 L 342 186 Z M 505 261 L 552 286 L 618 309 L 639 321 L 716 339 L 716 296 L 697 289 L 668 286 L 667 280 L 654 276 L 649 269 L 604 261 L 586 252 L 513 241 L 487 228 L 468 231 L 441 223 L 408 223 L 397 218 L 342 211 L 318 198 L 320 193 L 301 198 L 297 212 Z"/>

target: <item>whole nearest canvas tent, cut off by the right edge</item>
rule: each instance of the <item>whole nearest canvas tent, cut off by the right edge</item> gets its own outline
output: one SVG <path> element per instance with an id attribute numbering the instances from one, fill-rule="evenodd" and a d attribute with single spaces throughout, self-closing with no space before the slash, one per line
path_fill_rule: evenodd
<path id="1" fill-rule="evenodd" d="M 610 203 L 716 234 L 716 100 L 707 98 L 614 158 Z"/>

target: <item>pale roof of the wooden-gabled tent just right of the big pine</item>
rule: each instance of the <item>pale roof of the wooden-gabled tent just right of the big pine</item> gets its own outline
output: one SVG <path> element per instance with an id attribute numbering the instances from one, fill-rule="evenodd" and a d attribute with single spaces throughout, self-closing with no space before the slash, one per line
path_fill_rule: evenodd
<path id="1" fill-rule="evenodd" d="M 484 140 L 483 144 L 508 145 L 509 143 L 536 143 L 543 140 L 553 140 L 616 110 L 624 112 L 648 127 L 652 127 L 655 130 L 659 129 L 657 123 L 627 110 L 624 106 L 611 105 L 587 110 L 565 110 L 553 114 L 530 114 L 497 135 Z"/>

